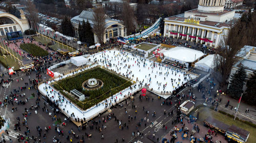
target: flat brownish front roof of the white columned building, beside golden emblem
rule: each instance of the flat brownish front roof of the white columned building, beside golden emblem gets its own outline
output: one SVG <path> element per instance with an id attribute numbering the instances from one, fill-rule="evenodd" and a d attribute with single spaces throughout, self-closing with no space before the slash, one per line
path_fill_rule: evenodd
<path id="1" fill-rule="evenodd" d="M 182 21 L 184 22 L 184 17 L 177 17 L 177 16 L 170 16 L 165 18 L 165 20 L 174 20 L 174 21 Z M 184 22 L 185 23 L 185 22 Z M 215 27 L 231 27 L 231 23 L 223 23 L 223 22 L 214 22 L 214 21 L 200 21 L 200 24 L 202 25 L 209 25 L 209 26 L 215 26 Z M 199 25 L 200 25 L 199 24 Z"/>

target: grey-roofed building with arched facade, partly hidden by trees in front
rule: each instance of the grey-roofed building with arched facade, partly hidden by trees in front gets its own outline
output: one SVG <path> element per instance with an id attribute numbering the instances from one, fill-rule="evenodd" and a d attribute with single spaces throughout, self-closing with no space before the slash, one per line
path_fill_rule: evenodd
<path id="1" fill-rule="evenodd" d="M 122 24 L 121 20 L 117 19 L 111 19 L 108 15 L 105 15 L 105 35 L 103 42 L 106 42 L 110 38 L 119 37 L 119 36 L 126 36 L 126 29 L 124 28 L 124 25 Z M 94 17 L 93 17 L 93 11 L 86 11 L 83 10 L 80 15 L 77 15 L 71 19 L 71 22 L 73 23 L 73 26 L 75 27 L 75 36 L 79 37 L 78 35 L 78 25 L 81 24 L 82 21 L 89 21 L 91 26 L 94 25 Z M 94 42 L 98 43 L 98 38 L 94 34 Z"/>

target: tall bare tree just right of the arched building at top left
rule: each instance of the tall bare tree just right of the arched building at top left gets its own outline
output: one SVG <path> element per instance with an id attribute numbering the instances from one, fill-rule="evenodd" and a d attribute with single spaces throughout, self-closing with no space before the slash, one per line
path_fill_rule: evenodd
<path id="1" fill-rule="evenodd" d="M 30 0 L 27 1 L 27 11 L 28 11 L 28 15 L 27 15 L 28 19 L 31 21 L 31 27 L 33 27 L 34 30 L 37 30 L 36 24 L 37 22 L 39 22 L 39 19 L 37 17 L 37 9 L 35 7 L 35 4 Z"/>

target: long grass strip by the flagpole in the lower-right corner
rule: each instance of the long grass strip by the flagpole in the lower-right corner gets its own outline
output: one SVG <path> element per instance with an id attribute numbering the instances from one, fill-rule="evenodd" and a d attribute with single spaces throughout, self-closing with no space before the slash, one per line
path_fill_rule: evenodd
<path id="1" fill-rule="evenodd" d="M 203 122 L 206 118 L 208 117 L 212 117 L 212 118 L 215 118 L 216 120 L 219 120 L 227 125 L 235 125 L 235 126 L 238 126 L 244 130 L 247 130 L 250 132 L 250 135 L 249 135 L 249 138 L 247 140 L 247 142 L 249 143 L 253 143 L 255 142 L 256 140 L 256 128 L 253 127 L 253 126 L 250 126 L 248 124 L 245 124 L 244 122 L 241 122 L 241 121 L 234 121 L 233 118 L 229 117 L 229 116 L 226 116 L 224 115 L 223 113 L 220 113 L 220 112 L 217 112 L 215 110 L 212 110 L 210 108 L 207 108 L 207 107 L 201 107 L 198 109 L 197 112 L 200 112 L 200 115 L 199 115 L 199 121 Z M 194 116 L 197 115 L 197 112 L 194 113 Z"/>

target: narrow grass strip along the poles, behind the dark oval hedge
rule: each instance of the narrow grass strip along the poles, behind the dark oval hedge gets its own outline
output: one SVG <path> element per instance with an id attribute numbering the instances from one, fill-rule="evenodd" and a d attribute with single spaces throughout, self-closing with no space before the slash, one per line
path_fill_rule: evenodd
<path id="1" fill-rule="evenodd" d="M 48 45 L 48 43 L 50 43 L 50 39 L 46 39 L 46 37 L 42 37 L 42 36 L 34 36 L 33 37 L 36 41 L 38 41 L 38 42 L 41 42 L 42 44 L 44 44 L 44 45 Z M 53 41 L 52 41 L 53 42 Z M 55 51 L 57 51 L 57 49 L 69 49 L 70 51 L 72 51 L 72 49 L 73 48 L 69 48 L 69 47 L 67 47 L 66 45 L 63 45 L 63 47 L 62 47 L 62 44 L 58 44 L 57 42 L 53 42 L 53 45 L 50 45 L 49 47 L 51 47 L 51 48 L 53 48 Z M 73 50 L 75 50 L 75 49 L 73 49 Z"/>

